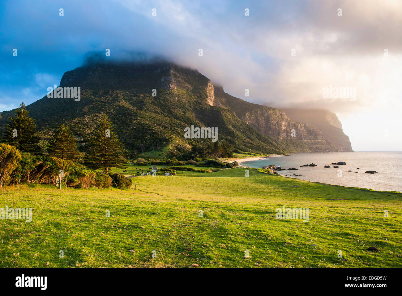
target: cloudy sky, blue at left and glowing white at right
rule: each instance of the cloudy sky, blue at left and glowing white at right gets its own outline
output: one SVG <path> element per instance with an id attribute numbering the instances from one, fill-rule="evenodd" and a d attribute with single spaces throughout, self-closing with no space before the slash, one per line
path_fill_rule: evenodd
<path id="1" fill-rule="evenodd" d="M 402 150 L 401 28 L 400 0 L 3 0 L 0 111 L 108 48 L 196 68 L 252 103 L 335 112 L 356 151 Z"/>

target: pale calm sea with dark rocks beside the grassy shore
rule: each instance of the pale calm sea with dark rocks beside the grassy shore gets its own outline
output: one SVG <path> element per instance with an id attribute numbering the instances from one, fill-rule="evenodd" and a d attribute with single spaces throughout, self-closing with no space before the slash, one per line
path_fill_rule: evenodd
<path id="1" fill-rule="evenodd" d="M 338 161 L 344 161 L 346 165 L 338 165 L 339 168 L 334 168 L 331 163 Z M 311 163 L 318 166 L 300 167 Z M 289 156 L 269 157 L 241 163 L 242 166 L 250 168 L 262 168 L 270 164 L 286 169 L 277 171 L 277 173 L 292 178 L 348 187 L 402 192 L 402 151 L 291 153 Z M 330 168 L 324 168 L 325 165 Z M 289 168 L 299 170 L 288 170 Z M 351 172 L 348 172 L 349 170 Z M 366 171 L 376 171 L 378 174 L 365 174 Z M 301 176 L 293 176 L 293 174 L 301 174 Z"/>

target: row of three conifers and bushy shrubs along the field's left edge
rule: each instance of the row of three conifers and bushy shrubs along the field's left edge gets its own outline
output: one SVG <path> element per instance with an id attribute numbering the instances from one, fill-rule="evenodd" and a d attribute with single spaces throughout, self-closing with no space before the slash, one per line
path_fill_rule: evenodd
<path id="1" fill-rule="evenodd" d="M 82 152 L 68 126 L 59 126 L 42 151 L 34 118 L 22 102 L 10 117 L 0 144 L 0 188 L 4 183 L 54 184 L 67 186 L 129 188 L 131 180 L 110 174 L 110 168 L 124 168 L 125 149 L 113 132 L 113 123 L 103 115 L 88 136 Z M 95 172 L 102 169 L 103 173 Z"/>

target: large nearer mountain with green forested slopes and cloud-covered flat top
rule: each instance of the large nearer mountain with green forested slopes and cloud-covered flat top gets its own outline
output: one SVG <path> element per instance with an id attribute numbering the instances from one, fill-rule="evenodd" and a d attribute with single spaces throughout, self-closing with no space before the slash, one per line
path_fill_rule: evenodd
<path id="1" fill-rule="evenodd" d="M 59 86 L 81 87 L 80 101 L 45 96 L 27 106 L 44 143 L 55 128 L 66 124 L 85 144 L 105 113 L 134 154 L 180 155 L 195 141 L 211 141 L 185 139 L 184 128 L 191 125 L 217 127 L 218 140 L 225 139 L 239 152 L 338 151 L 319 128 L 291 120 L 281 110 L 228 95 L 197 70 L 163 60 L 85 62 L 64 73 Z M 3 131 L 13 114 L 13 110 L 0 113 Z"/>

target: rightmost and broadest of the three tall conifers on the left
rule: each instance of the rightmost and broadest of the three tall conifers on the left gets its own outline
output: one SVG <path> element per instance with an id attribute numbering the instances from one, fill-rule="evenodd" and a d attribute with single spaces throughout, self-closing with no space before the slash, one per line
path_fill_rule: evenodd
<path id="1" fill-rule="evenodd" d="M 124 148 L 112 131 L 112 122 L 104 115 L 86 145 L 85 164 L 89 168 L 125 168 Z"/>

